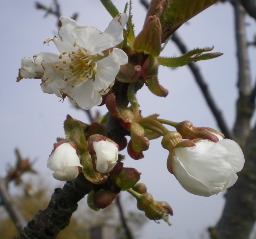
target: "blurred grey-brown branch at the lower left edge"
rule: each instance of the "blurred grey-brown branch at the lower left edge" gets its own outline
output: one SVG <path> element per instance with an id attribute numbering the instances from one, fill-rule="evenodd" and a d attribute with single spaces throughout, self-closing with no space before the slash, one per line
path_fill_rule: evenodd
<path id="1" fill-rule="evenodd" d="M 27 225 L 28 221 L 20 211 L 19 207 L 13 202 L 8 193 L 7 182 L 4 178 L 0 178 L 0 198 L 1 205 L 6 208 L 10 218 L 14 222 L 17 230 L 21 232 Z"/>

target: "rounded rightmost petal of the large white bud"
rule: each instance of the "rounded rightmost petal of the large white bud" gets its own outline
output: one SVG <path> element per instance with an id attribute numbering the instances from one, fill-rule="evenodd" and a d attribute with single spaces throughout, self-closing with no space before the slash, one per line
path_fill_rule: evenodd
<path id="1" fill-rule="evenodd" d="M 238 143 L 226 138 L 224 140 L 220 140 L 218 144 L 224 146 L 228 151 L 229 162 L 233 168 L 233 172 L 240 172 L 244 167 L 244 154 Z"/>

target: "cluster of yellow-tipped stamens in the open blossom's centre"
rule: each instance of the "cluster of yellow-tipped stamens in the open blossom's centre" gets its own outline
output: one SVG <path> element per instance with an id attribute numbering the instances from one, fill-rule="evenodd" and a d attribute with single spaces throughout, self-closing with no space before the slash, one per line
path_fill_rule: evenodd
<path id="1" fill-rule="evenodd" d="M 56 64 L 55 67 L 66 73 L 65 81 L 72 83 L 73 88 L 82 85 L 88 79 L 94 80 L 97 74 L 97 61 L 82 49 L 62 52 L 59 59 L 63 59 L 63 67 L 60 67 L 60 64 Z"/>

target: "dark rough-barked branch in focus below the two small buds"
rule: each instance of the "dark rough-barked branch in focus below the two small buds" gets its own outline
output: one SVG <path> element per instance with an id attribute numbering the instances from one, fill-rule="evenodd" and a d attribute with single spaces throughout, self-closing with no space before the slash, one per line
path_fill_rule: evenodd
<path id="1" fill-rule="evenodd" d="M 81 173 L 62 189 L 57 188 L 52 194 L 49 205 L 40 210 L 16 239 L 54 239 L 70 222 L 70 217 L 76 211 L 78 201 L 92 191 L 92 184 Z"/>

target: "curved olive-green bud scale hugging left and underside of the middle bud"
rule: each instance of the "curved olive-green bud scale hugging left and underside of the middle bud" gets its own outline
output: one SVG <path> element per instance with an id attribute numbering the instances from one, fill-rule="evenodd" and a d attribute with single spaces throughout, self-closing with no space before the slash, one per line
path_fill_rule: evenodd
<path id="1" fill-rule="evenodd" d="M 85 178 L 93 184 L 102 184 L 108 179 L 108 174 L 100 174 L 94 171 L 92 165 L 92 157 L 89 151 L 80 155 L 80 162 L 83 166 L 83 173 Z"/>

